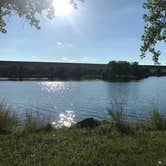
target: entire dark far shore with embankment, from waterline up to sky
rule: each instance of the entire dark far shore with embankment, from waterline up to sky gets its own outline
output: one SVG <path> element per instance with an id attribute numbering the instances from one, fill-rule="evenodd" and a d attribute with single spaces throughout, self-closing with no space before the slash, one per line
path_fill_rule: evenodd
<path id="1" fill-rule="evenodd" d="M 108 64 L 0 61 L 0 81 L 128 82 L 151 76 L 166 76 L 166 66 L 111 61 Z"/>

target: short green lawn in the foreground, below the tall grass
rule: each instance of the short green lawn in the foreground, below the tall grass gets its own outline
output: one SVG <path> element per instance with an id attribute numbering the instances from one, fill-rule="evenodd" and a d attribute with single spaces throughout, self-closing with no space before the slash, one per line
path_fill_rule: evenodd
<path id="1" fill-rule="evenodd" d="M 1 166 L 165 166 L 165 154 L 166 132 L 122 135 L 110 125 L 0 136 Z"/>

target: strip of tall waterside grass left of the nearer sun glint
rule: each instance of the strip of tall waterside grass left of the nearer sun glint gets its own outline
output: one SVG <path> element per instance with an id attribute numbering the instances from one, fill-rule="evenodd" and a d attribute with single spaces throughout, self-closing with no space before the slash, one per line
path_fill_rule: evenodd
<path id="1" fill-rule="evenodd" d="M 52 125 L 41 116 L 34 116 L 34 113 L 27 113 L 22 121 L 9 108 L 5 102 L 0 103 L 0 134 L 15 133 L 17 131 L 24 133 L 37 131 L 50 131 Z"/>

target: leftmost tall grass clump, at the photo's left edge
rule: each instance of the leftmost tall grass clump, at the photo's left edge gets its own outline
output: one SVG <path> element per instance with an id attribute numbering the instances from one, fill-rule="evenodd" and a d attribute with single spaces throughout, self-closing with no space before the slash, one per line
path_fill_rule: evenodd
<path id="1" fill-rule="evenodd" d="M 18 125 L 15 113 L 12 113 L 7 104 L 0 103 L 0 134 L 11 133 Z"/>

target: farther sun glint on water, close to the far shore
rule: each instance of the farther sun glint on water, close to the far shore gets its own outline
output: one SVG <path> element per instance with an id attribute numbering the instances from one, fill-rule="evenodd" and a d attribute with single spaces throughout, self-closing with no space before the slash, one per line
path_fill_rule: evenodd
<path id="1" fill-rule="evenodd" d="M 48 92 L 55 92 L 59 90 L 65 90 L 66 87 L 64 85 L 64 82 L 40 82 L 42 90 L 48 91 Z"/>

